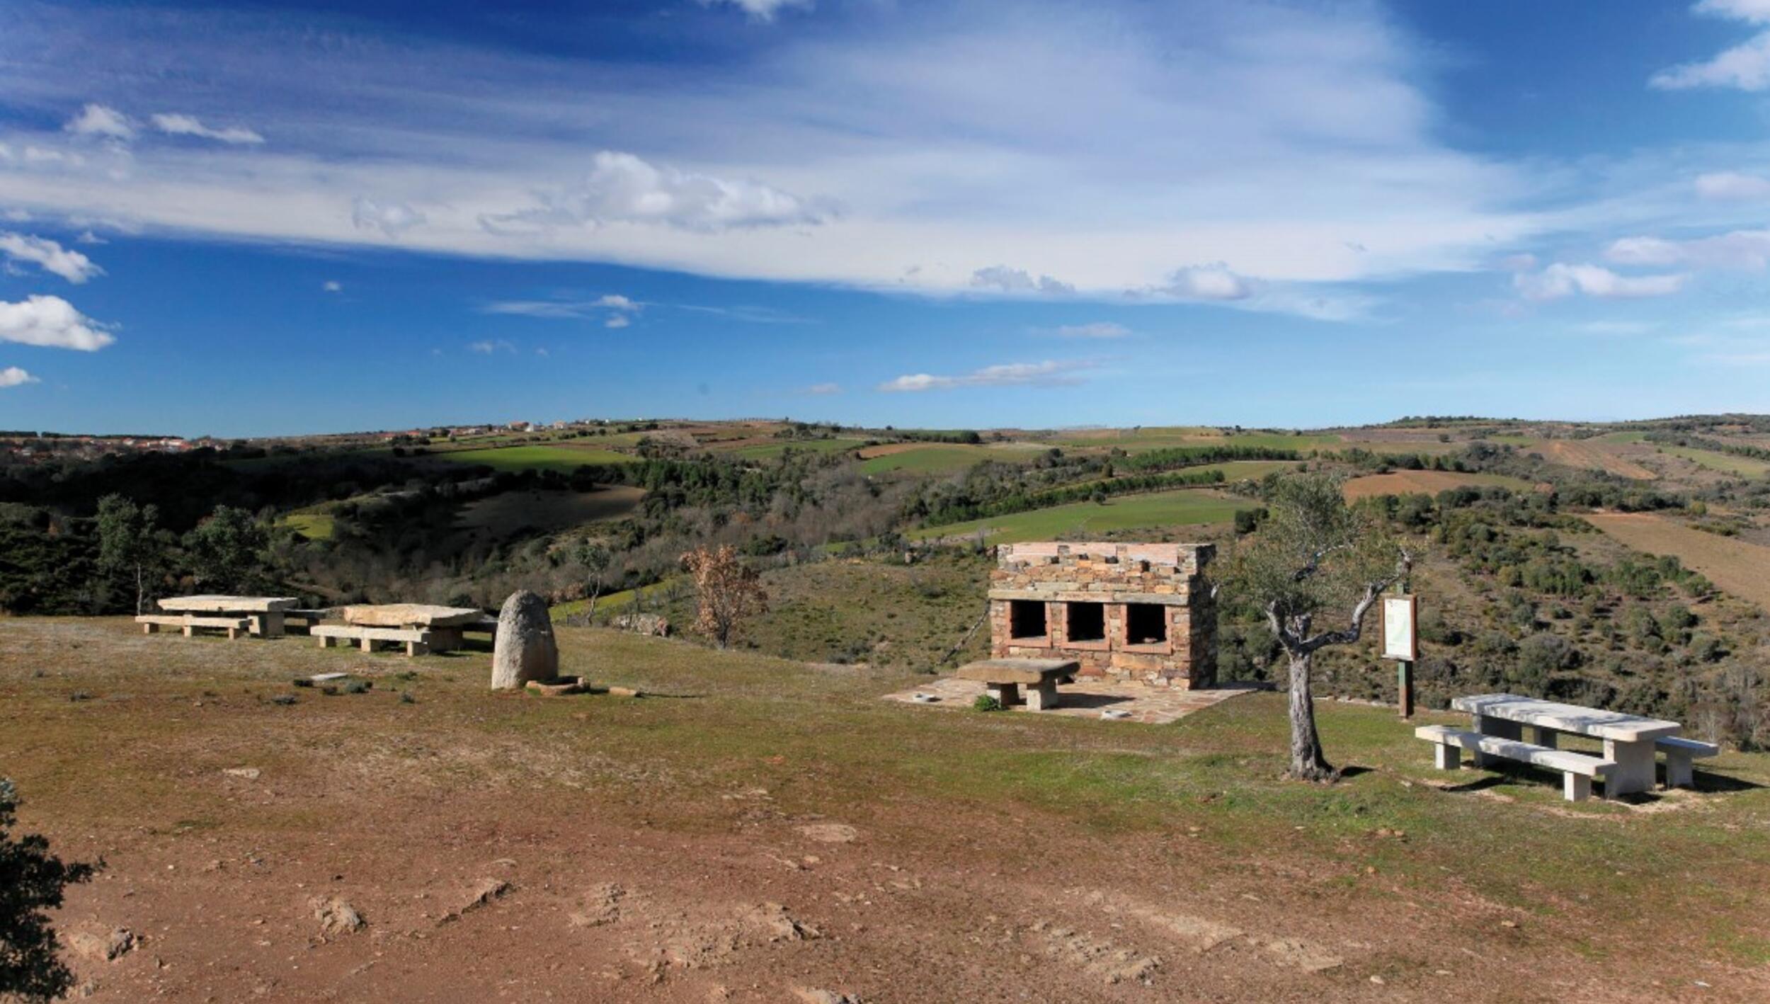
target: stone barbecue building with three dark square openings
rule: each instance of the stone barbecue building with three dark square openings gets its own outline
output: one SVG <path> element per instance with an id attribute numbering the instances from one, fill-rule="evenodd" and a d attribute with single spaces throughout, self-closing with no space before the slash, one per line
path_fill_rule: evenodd
<path id="1" fill-rule="evenodd" d="M 989 572 L 995 659 L 1074 659 L 1083 676 L 1216 683 L 1214 544 L 1004 544 Z"/>

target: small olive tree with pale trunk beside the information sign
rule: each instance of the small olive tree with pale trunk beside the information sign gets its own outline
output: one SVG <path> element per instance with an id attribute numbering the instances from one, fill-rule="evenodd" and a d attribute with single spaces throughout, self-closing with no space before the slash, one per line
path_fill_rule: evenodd
<path id="1" fill-rule="evenodd" d="M 1368 510 L 1345 505 L 1342 478 L 1296 475 L 1273 487 L 1271 510 L 1237 549 L 1230 588 L 1266 614 L 1290 662 L 1290 776 L 1331 781 L 1315 731 L 1310 669 L 1329 645 L 1359 639 L 1365 614 L 1400 581 L 1412 556 Z M 1347 611 L 1322 630 L 1328 611 Z"/>

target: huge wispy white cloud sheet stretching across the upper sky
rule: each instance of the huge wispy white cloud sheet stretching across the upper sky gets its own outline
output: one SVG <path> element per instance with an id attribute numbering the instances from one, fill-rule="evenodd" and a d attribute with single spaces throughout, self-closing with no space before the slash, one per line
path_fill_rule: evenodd
<path id="1" fill-rule="evenodd" d="M 0 202 L 195 237 L 398 236 L 434 253 L 936 296 L 1000 290 L 974 285 L 995 262 L 1034 290 L 1060 276 L 1046 289 L 1112 301 L 1175 264 L 1225 262 L 1258 287 L 1246 308 L 1310 315 L 1351 308 L 1320 287 L 1273 290 L 1467 271 L 1559 221 L 1517 209 L 1552 204 L 1538 197 L 1558 165 L 1446 145 L 1428 46 L 1377 4 L 862 7 L 717 66 L 373 35 L 363 58 L 319 41 L 363 30 L 326 16 L 290 35 L 209 9 L 179 30 L 135 7 L 65 14 L 106 53 L 101 71 L 55 58 L 57 32 L 27 19 L 0 92 L 28 81 L 34 101 L 78 108 L 106 80 L 154 80 L 159 108 L 278 143 L 143 142 L 129 163 L 80 147 L 78 168 L 0 172 Z M 184 64 L 209 76 L 156 74 Z M 586 165 L 589 151 L 605 152 Z"/>

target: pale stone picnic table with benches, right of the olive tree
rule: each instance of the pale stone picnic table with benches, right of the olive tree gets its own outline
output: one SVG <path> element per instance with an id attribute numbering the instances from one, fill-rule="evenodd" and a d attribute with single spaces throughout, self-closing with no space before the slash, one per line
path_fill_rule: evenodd
<path id="1" fill-rule="evenodd" d="M 1457 698 L 1451 707 L 1469 714 L 1474 733 L 1480 737 L 1473 745 L 1478 765 L 1503 756 L 1563 770 L 1568 776 L 1568 799 L 1575 800 L 1584 795 L 1581 788 L 1589 790 L 1591 777 L 1604 779 L 1605 799 L 1653 788 L 1655 749 L 1666 751 L 1666 781 L 1671 786 L 1690 783 L 1692 756 L 1717 753 L 1717 747 L 1710 744 L 1680 738 L 1678 733 L 1683 731 L 1683 726 L 1666 719 L 1563 705 L 1519 694 Z M 1526 726 L 1533 731 L 1535 745 L 1522 742 Z M 1556 749 L 1556 737 L 1561 733 L 1604 740 L 1604 758 Z M 1430 737 L 1421 735 L 1421 738 Z M 1584 763 L 1586 760 L 1591 763 Z M 1584 776 L 1584 784 L 1579 784 L 1575 776 Z"/>

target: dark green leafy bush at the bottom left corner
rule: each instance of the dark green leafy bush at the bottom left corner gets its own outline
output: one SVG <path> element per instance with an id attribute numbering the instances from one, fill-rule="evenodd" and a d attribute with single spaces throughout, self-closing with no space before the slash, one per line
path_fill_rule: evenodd
<path id="1" fill-rule="evenodd" d="M 62 905 L 62 889 L 92 878 L 101 868 L 65 864 L 37 834 L 14 838 L 18 793 L 0 777 L 0 997 L 53 1000 L 73 985 L 55 958 L 55 928 L 46 910 Z"/>

